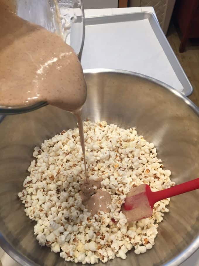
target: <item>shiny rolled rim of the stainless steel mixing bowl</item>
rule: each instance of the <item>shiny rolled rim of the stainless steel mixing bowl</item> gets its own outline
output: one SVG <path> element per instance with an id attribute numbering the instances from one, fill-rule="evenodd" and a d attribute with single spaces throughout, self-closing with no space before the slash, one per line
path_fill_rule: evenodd
<path id="1" fill-rule="evenodd" d="M 93 69 L 86 69 L 83 70 L 84 74 L 99 74 L 99 73 L 119 73 L 119 74 L 127 74 L 131 76 L 140 77 L 145 80 L 149 80 L 152 83 L 160 85 L 163 89 L 169 90 L 171 93 L 174 93 L 178 98 L 184 101 L 198 116 L 199 118 L 199 108 L 196 106 L 190 99 L 188 99 L 185 95 L 181 92 L 178 92 L 176 89 L 172 88 L 168 84 L 154 79 L 152 77 L 146 76 L 144 74 L 131 72 L 127 70 L 117 70 L 117 69 L 105 69 L 105 68 L 93 68 Z M 46 104 L 45 104 L 46 105 Z M 44 105 L 42 105 L 44 106 Z M 39 107 L 38 107 L 39 108 Z M 2 121 L 2 120 L 1 120 Z M 0 121 L 0 123 L 1 123 Z M 0 246 L 3 250 L 13 258 L 16 262 L 24 266 L 40 266 L 37 263 L 33 262 L 32 260 L 25 257 L 20 252 L 16 251 L 10 243 L 6 240 L 6 238 L 0 232 Z M 182 250 L 178 255 L 176 255 L 173 259 L 169 260 L 168 262 L 164 263 L 163 266 L 178 266 L 185 260 L 187 260 L 195 251 L 199 248 L 199 235 L 193 240 L 193 242 L 184 250 Z"/>

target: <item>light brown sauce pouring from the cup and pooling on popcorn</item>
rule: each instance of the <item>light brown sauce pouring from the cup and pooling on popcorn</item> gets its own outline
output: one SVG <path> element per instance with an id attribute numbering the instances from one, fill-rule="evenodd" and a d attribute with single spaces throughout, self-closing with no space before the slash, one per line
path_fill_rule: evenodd
<path id="1" fill-rule="evenodd" d="M 111 197 L 86 174 L 82 106 L 87 89 L 82 66 L 71 46 L 61 37 L 19 18 L 13 0 L 0 0 L 0 105 L 29 106 L 46 101 L 70 111 L 78 121 L 85 181 L 80 192 L 92 213 L 110 211 Z M 97 189 L 96 189 L 97 188 Z"/>

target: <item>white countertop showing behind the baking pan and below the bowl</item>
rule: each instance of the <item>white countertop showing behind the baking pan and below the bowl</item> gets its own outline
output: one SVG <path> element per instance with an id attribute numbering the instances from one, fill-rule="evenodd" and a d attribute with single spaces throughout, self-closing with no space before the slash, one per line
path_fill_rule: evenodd
<path id="1" fill-rule="evenodd" d="M 131 8 L 86 9 L 85 17 L 106 16 L 106 15 L 134 13 L 142 11 L 151 12 L 155 15 L 153 7 L 147 6 L 147 7 L 131 7 Z M 1 248 L 0 248 L 0 260 L 1 260 L 0 266 L 1 263 L 3 266 L 20 266 L 11 257 L 9 257 Z M 199 250 L 197 250 L 188 260 L 183 262 L 181 266 L 199 266 Z"/>

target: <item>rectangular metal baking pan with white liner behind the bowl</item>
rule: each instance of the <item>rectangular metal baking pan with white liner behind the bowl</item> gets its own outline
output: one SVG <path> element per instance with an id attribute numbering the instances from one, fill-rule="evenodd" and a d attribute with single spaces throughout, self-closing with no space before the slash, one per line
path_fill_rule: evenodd
<path id="1" fill-rule="evenodd" d="M 71 42 L 72 42 L 71 36 Z M 145 74 L 189 96 L 193 87 L 155 16 L 150 12 L 85 18 L 83 69 Z"/>

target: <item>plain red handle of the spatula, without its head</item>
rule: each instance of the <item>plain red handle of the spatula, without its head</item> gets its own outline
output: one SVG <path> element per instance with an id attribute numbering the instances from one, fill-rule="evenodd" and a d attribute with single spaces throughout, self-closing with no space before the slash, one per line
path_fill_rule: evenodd
<path id="1" fill-rule="evenodd" d="M 195 189 L 199 189 L 199 178 L 157 192 L 150 192 L 150 205 L 153 206 L 161 199 L 170 198 Z"/>

